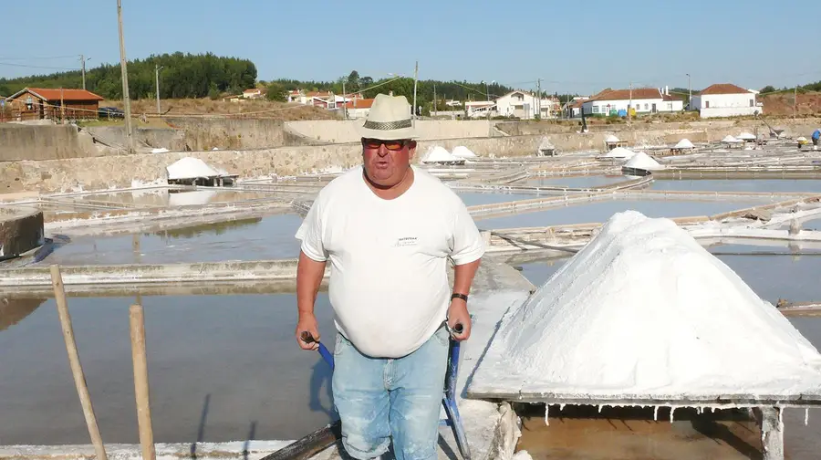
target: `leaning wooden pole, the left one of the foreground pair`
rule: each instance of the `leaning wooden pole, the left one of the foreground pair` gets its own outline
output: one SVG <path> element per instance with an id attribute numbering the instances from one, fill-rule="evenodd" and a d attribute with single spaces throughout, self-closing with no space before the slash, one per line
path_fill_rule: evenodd
<path id="1" fill-rule="evenodd" d="M 63 338 L 66 340 L 66 350 L 68 351 L 68 363 L 71 365 L 71 373 L 74 375 L 74 384 L 77 387 L 80 404 L 83 406 L 83 414 L 86 416 L 88 434 L 91 436 L 91 444 L 97 452 L 98 460 L 108 460 L 106 449 L 99 435 L 97 417 L 94 416 L 94 407 L 91 405 L 91 396 L 88 394 L 86 376 L 83 374 L 83 367 L 80 365 L 77 343 L 74 341 L 74 329 L 71 327 L 71 317 L 68 315 L 68 303 L 66 302 L 66 291 L 63 288 L 63 277 L 60 274 L 60 267 L 51 266 L 51 285 L 54 287 L 54 298 L 57 303 L 57 313 L 60 317 L 60 325 L 63 329 Z"/>

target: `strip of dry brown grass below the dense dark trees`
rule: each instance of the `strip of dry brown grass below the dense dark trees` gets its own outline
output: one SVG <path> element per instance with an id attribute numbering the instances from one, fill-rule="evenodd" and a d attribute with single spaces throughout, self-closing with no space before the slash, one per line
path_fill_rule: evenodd
<path id="1" fill-rule="evenodd" d="M 117 107 L 122 109 L 121 100 L 103 100 L 100 107 Z M 242 102 L 231 102 L 222 99 L 161 99 L 162 115 L 177 117 L 184 115 L 240 115 L 249 114 L 254 118 L 274 120 L 333 120 L 334 112 L 318 107 L 286 102 L 274 102 L 265 99 L 248 99 Z M 131 101 L 131 115 L 140 117 L 142 114 L 156 116 L 157 102 L 154 99 L 139 99 Z"/>

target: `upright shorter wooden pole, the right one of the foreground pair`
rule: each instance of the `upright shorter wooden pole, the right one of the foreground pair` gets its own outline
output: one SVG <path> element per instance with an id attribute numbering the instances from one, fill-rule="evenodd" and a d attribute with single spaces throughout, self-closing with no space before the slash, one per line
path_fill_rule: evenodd
<path id="1" fill-rule="evenodd" d="M 134 394 L 137 397 L 137 423 L 140 428 L 142 460 L 155 460 L 154 433 L 151 429 L 151 404 L 148 361 L 145 354 L 145 317 L 142 306 L 129 308 L 131 324 L 131 361 L 134 362 Z"/>

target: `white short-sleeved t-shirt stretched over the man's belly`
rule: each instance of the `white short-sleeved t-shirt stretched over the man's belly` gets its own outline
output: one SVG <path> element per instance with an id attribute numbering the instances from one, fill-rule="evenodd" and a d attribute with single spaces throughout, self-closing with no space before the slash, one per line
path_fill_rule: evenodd
<path id="1" fill-rule="evenodd" d="M 431 174 L 413 173 L 393 200 L 370 190 L 361 166 L 343 173 L 296 232 L 306 256 L 330 260 L 337 329 L 376 358 L 400 358 L 430 339 L 451 302 L 447 257 L 462 265 L 484 254 L 462 199 Z"/>

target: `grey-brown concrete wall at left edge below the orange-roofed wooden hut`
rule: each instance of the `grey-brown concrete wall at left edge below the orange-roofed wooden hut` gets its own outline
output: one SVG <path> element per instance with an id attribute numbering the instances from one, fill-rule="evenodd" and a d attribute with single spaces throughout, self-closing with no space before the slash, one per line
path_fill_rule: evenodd
<path id="1" fill-rule="evenodd" d="M 0 162 L 60 160 L 104 154 L 72 125 L 0 124 Z"/>

